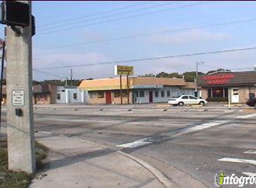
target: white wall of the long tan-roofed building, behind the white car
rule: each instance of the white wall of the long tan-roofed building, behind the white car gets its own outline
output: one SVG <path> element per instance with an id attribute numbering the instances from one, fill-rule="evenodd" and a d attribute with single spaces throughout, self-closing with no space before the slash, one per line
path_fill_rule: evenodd
<path id="1" fill-rule="evenodd" d="M 167 96 L 167 91 L 170 91 L 170 96 Z M 137 103 L 149 103 L 149 93 L 153 91 L 153 102 L 168 102 L 169 98 L 178 97 L 182 94 L 194 95 L 194 89 L 183 89 L 181 87 L 168 86 L 158 89 L 137 89 L 138 97 Z M 144 97 L 140 97 L 140 92 L 144 91 Z M 158 97 L 155 95 L 155 91 L 158 91 Z M 161 91 L 164 91 L 164 97 L 161 96 Z"/>

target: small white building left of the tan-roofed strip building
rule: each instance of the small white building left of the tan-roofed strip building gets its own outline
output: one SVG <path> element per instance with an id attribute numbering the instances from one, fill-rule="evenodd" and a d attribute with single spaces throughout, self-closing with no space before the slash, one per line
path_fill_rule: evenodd
<path id="1" fill-rule="evenodd" d="M 77 86 L 58 86 L 56 103 L 87 103 L 88 92 Z"/>

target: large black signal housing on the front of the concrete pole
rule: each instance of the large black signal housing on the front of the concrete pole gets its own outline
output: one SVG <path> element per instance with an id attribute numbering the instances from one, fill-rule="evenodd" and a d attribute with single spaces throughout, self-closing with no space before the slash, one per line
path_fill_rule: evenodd
<path id="1" fill-rule="evenodd" d="M 9 26 L 26 27 L 30 22 L 29 4 L 20 1 L 3 1 L 1 3 L 0 23 Z"/>

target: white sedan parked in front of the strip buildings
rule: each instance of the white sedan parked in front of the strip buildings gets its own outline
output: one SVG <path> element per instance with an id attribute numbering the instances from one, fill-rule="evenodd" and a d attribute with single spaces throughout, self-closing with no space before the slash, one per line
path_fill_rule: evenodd
<path id="1" fill-rule="evenodd" d="M 201 98 L 196 98 L 192 95 L 181 95 L 177 98 L 170 98 L 168 100 L 168 104 L 170 105 L 178 105 L 178 106 L 184 106 L 184 105 L 206 105 L 207 101 Z"/>

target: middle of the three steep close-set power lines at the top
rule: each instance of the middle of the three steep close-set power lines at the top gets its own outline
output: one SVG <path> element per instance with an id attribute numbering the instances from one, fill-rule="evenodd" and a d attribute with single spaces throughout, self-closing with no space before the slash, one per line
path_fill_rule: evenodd
<path id="1" fill-rule="evenodd" d="M 115 14 L 111 14 L 111 15 L 108 15 L 108 16 L 101 16 L 101 17 L 98 17 L 98 18 L 93 18 L 93 19 L 89 19 L 89 20 L 83 20 L 83 21 L 77 21 L 77 22 L 72 22 L 71 24 L 64 24 L 64 25 L 61 25 L 61 26 L 51 26 L 50 28 L 45 28 L 45 29 L 40 29 L 38 32 L 40 31 L 44 31 L 44 30 L 48 30 L 48 29 L 55 29 L 55 28 L 59 28 L 59 27 L 63 27 L 63 26 L 70 26 L 70 25 L 76 25 L 76 24 L 80 24 L 80 23 L 86 23 L 86 22 L 90 22 L 90 21 L 93 21 L 93 20 L 100 20 L 100 19 L 104 19 L 104 18 L 108 18 L 108 17 L 113 17 L 113 16 L 118 16 L 118 15 L 122 15 L 122 14 L 126 14 L 126 13 L 130 13 L 130 12 L 138 12 L 138 11 L 142 11 L 142 10 L 147 10 L 147 9 L 151 9 L 151 8 L 156 8 L 156 7 L 161 7 L 161 6 L 166 6 L 168 4 L 174 4 L 175 2 L 172 2 L 172 3 L 164 3 L 164 4 L 158 4 L 158 5 L 154 5 L 154 6 L 151 6 L 151 7 L 146 7 L 146 8 L 140 8 L 140 9 L 137 9 L 137 10 L 130 10 L 130 11 L 126 11 L 126 12 L 118 12 L 118 13 L 115 13 Z"/>

